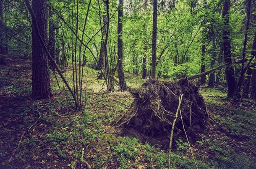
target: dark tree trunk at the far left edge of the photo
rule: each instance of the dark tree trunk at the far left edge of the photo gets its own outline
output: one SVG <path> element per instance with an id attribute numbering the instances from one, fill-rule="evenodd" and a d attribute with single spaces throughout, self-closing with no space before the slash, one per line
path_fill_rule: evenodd
<path id="1" fill-rule="evenodd" d="M 6 48 L 5 48 L 5 38 L 4 38 L 4 25 L 3 25 L 3 1 L 0 0 L 0 65 L 6 65 Z"/>

